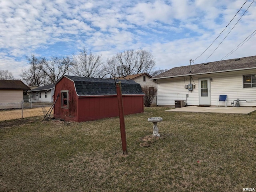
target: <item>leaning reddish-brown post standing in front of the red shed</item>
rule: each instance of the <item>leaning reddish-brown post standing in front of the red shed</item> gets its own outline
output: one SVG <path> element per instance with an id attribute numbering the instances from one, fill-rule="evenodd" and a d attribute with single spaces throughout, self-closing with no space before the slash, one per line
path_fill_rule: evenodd
<path id="1" fill-rule="evenodd" d="M 123 154 L 127 155 L 128 152 L 127 152 L 127 147 L 126 147 L 126 133 L 125 133 L 125 124 L 124 124 L 124 108 L 123 108 L 121 81 L 116 83 L 116 93 L 117 93 L 118 109 L 119 109 L 119 121 L 120 121 L 122 149 L 123 149 Z"/>

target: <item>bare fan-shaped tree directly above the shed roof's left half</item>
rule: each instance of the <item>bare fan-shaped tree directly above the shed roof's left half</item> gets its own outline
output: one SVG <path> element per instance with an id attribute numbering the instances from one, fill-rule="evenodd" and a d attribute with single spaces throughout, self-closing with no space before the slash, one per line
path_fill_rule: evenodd
<path id="1" fill-rule="evenodd" d="M 80 49 L 78 55 L 73 54 L 70 72 L 76 76 L 98 77 L 102 74 L 102 55 L 94 55 L 86 48 Z"/>

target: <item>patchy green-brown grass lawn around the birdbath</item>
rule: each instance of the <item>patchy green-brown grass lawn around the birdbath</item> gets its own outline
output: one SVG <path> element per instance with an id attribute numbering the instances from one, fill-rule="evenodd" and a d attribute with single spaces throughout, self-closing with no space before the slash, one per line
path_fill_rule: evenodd
<path id="1" fill-rule="evenodd" d="M 256 188 L 256 112 L 165 112 L 82 123 L 0 122 L 0 191 L 243 191 Z M 159 139 L 149 117 L 162 117 Z"/>

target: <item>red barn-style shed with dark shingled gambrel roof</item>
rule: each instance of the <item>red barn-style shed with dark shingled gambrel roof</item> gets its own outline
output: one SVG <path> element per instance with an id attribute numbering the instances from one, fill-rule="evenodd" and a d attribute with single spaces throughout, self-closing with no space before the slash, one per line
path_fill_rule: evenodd
<path id="1" fill-rule="evenodd" d="M 118 80 L 119 81 L 119 80 Z M 144 93 L 133 80 L 120 80 L 124 114 L 144 112 Z M 116 117 L 118 101 L 113 79 L 64 75 L 55 84 L 54 117 L 69 121 L 90 121 Z"/>

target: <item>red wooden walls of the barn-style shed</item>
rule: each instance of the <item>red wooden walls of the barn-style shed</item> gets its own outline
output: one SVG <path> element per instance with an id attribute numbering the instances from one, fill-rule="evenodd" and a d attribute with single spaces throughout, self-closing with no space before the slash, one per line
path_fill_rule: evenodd
<path id="1" fill-rule="evenodd" d="M 69 108 L 61 108 L 61 90 L 68 90 Z M 81 96 L 76 94 L 74 82 L 66 77 L 56 83 L 54 117 L 68 121 L 90 121 L 119 116 L 117 96 Z M 123 95 L 124 114 L 144 112 L 143 95 Z"/>

